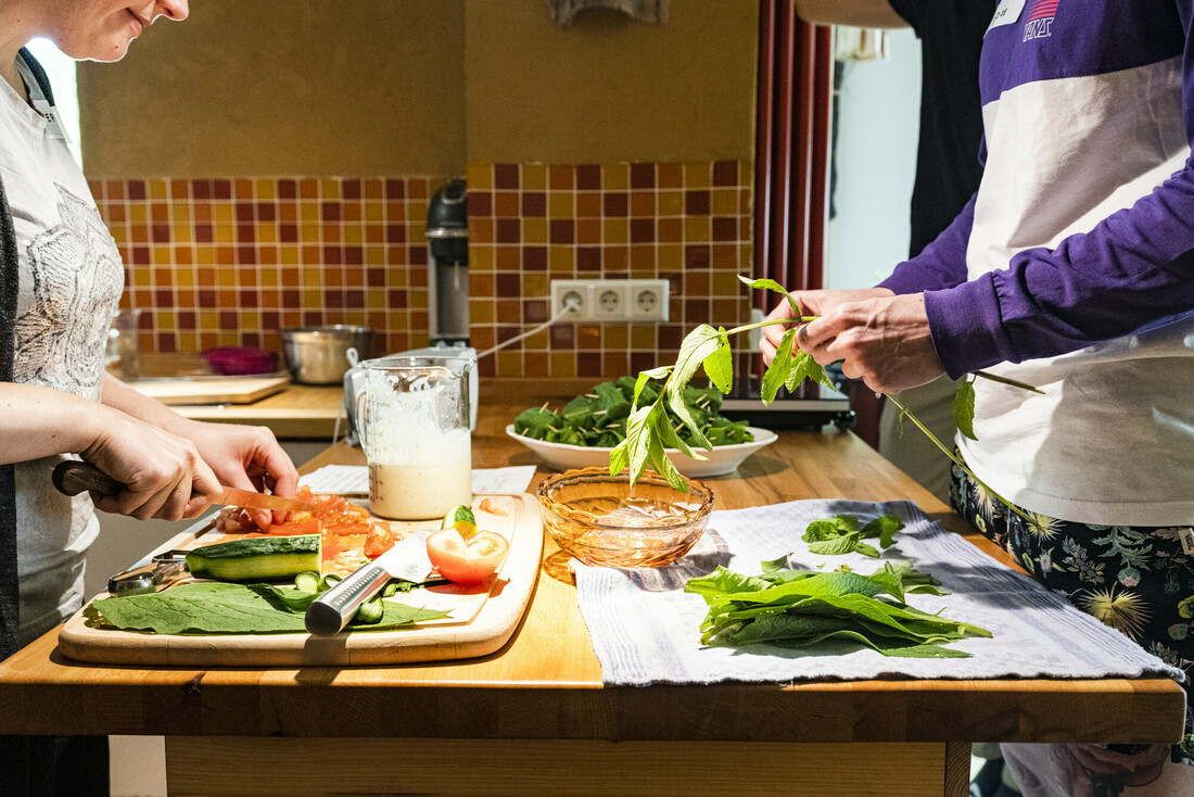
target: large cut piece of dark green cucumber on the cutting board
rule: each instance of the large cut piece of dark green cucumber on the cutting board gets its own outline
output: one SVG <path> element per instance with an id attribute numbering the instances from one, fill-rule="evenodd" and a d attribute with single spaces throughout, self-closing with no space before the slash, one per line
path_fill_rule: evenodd
<path id="1" fill-rule="evenodd" d="M 319 534 L 253 537 L 195 548 L 186 554 L 186 569 L 216 581 L 284 581 L 319 571 L 320 553 Z"/>

